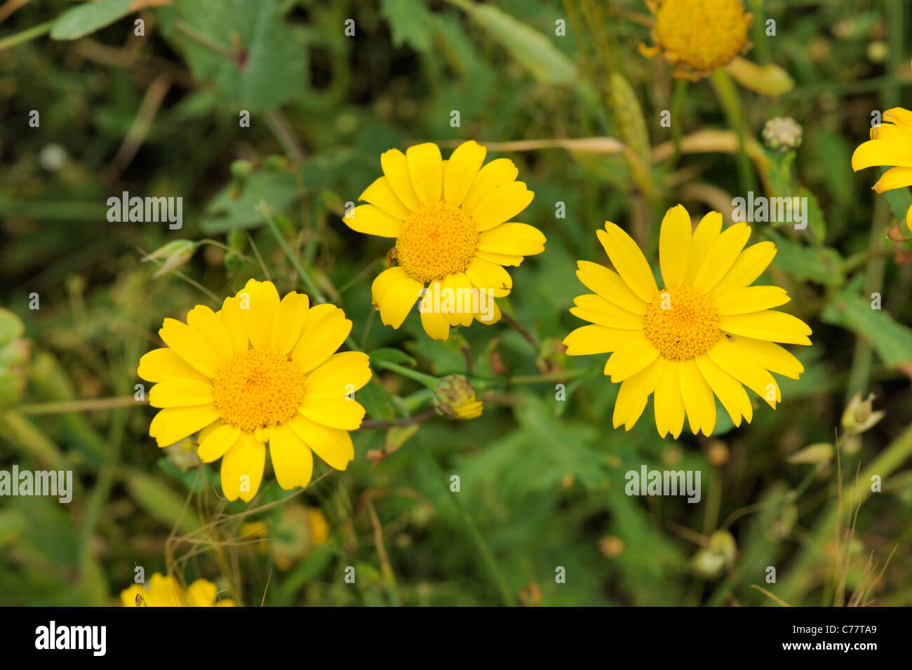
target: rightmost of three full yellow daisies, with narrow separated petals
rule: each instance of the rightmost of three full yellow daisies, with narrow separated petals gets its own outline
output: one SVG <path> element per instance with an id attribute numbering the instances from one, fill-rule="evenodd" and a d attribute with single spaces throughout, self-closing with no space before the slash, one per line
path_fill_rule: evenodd
<path id="1" fill-rule="evenodd" d="M 776 342 L 810 345 L 811 329 L 771 309 L 790 298 L 777 286 L 751 286 L 776 254 L 772 242 L 747 249 L 745 223 L 724 232 L 712 211 L 691 232 L 681 205 L 665 214 L 658 235 L 661 291 L 646 258 L 627 232 L 606 222 L 598 239 L 617 269 L 580 261 L 576 276 L 595 294 L 575 298 L 570 312 L 593 325 L 577 328 L 564 344 L 570 356 L 614 352 L 605 366 L 622 382 L 614 426 L 633 428 L 654 395 L 661 437 L 678 438 L 685 412 L 690 430 L 709 436 L 719 397 L 735 426 L 753 417 L 742 384 L 775 408 L 782 397 L 770 372 L 797 379 L 804 367 Z"/>

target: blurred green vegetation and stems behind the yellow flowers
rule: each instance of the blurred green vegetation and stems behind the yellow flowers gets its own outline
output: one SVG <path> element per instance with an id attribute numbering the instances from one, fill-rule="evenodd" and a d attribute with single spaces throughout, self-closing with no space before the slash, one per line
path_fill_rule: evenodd
<path id="1" fill-rule="evenodd" d="M 775 603 L 751 584 L 792 604 L 843 604 L 855 591 L 912 604 L 912 264 L 908 244 L 886 238 L 910 199 L 876 196 L 876 170 L 850 166 L 872 111 L 912 106 L 909 9 L 748 5 L 745 57 L 791 77 L 781 95 L 724 73 L 679 84 L 638 53 L 651 16 L 634 0 L 0 3 L 0 468 L 76 479 L 68 505 L 0 500 L 0 603 L 119 603 L 143 566 L 147 578 L 205 577 L 246 605 Z M 775 116 L 803 125 L 790 158 L 762 149 Z M 523 221 L 548 243 L 513 271 L 504 302 L 536 345 L 504 324 L 434 342 L 417 314 L 394 331 L 370 305 L 389 243 L 349 231 L 345 203 L 378 176 L 383 150 L 461 139 L 491 142 L 489 158 L 514 160 L 535 191 Z M 651 403 L 630 432 L 611 428 L 604 356 L 559 346 L 582 325 L 567 311 L 586 293 L 575 261 L 606 263 L 595 235 L 606 220 L 655 259 L 669 206 L 729 218 L 748 190 L 813 201 L 807 230 L 761 223 L 752 235 L 779 244 L 769 283 L 814 329 L 814 346 L 796 352 L 804 375 L 782 381 L 776 411 L 758 406 L 736 429 L 720 420 L 712 438 L 658 438 Z M 109 223 L 106 201 L 121 191 L 181 196 L 182 229 Z M 482 417 L 362 429 L 346 472 L 318 469 L 290 500 L 267 475 L 249 505 L 224 504 L 217 470 L 192 450 L 157 448 L 153 411 L 132 398 L 140 356 L 164 317 L 216 304 L 251 276 L 302 290 L 275 232 L 375 362 L 464 373 L 469 347 Z M 912 236 L 905 223 L 898 232 Z M 154 276 L 161 260 L 141 259 L 177 239 L 218 243 Z M 876 394 L 886 417 L 849 435 L 855 393 Z M 375 366 L 358 399 L 377 426 L 421 414 L 429 395 Z M 837 432 L 838 465 L 791 459 Z M 702 470 L 700 504 L 627 497 L 624 473 L 640 464 Z"/>

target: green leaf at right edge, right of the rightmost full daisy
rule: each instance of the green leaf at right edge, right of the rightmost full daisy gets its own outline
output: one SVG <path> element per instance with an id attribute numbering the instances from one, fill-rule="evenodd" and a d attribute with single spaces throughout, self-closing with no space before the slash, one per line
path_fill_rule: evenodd
<path id="1" fill-rule="evenodd" d="M 851 330 L 871 345 L 886 366 L 912 362 L 912 330 L 894 321 L 890 314 L 872 307 L 872 301 L 855 290 L 834 295 L 820 318 L 824 323 Z"/>

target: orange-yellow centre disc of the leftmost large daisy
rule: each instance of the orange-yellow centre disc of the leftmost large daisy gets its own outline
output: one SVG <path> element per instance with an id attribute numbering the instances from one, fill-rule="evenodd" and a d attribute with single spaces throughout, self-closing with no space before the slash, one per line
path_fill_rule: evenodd
<path id="1" fill-rule="evenodd" d="M 225 363 L 212 381 L 222 420 L 253 432 L 295 416 L 304 400 L 305 375 L 274 351 L 250 349 Z"/>

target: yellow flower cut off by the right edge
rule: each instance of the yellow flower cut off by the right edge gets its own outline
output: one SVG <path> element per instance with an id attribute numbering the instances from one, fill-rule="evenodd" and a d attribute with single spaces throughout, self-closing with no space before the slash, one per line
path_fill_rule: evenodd
<path id="1" fill-rule="evenodd" d="M 871 187 L 878 193 L 912 186 L 912 111 L 887 109 L 884 121 L 871 129 L 871 139 L 852 154 L 852 170 L 856 172 L 875 165 L 896 166 L 886 170 Z M 912 207 L 906 212 L 906 225 L 912 228 Z"/>

